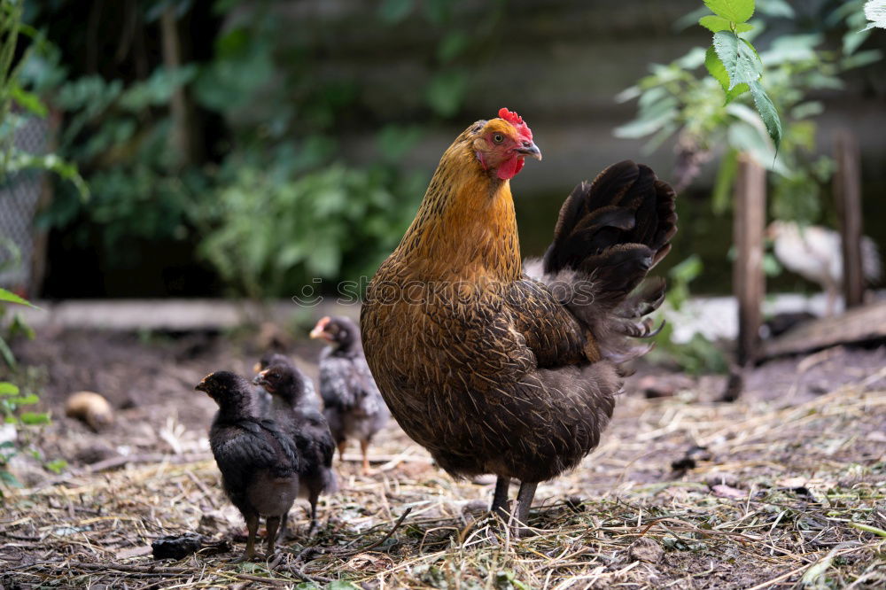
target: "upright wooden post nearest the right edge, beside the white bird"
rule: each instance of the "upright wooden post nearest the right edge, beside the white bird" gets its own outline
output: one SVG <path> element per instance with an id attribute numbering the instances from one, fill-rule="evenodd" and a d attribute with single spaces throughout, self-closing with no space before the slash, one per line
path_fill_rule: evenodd
<path id="1" fill-rule="evenodd" d="M 835 137 L 834 198 L 843 250 L 843 301 L 846 309 L 862 304 L 865 277 L 861 264 L 861 167 L 859 142 L 846 129 Z"/>

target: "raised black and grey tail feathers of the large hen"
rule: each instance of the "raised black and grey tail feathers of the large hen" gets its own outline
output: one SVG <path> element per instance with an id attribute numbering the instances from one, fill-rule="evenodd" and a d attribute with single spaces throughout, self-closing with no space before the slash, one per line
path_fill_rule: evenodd
<path id="1" fill-rule="evenodd" d="M 563 303 L 587 324 L 605 357 L 626 361 L 648 349 L 632 348 L 624 337 L 658 331 L 642 318 L 664 300 L 664 279 L 643 279 L 671 250 L 676 231 L 672 188 L 630 160 L 581 182 L 563 203 L 543 259 L 544 280 L 571 284 Z"/>

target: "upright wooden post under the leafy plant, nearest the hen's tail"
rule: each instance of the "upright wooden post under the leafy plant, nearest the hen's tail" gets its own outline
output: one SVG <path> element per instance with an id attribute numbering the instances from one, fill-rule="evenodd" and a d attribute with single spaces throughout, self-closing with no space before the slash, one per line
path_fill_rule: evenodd
<path id="1" fill-rule="evenodd" d="M 737 256 L 733 266 L 733 291 L 738 299 L 739 367 L 752 363 L 759 351 L 763 322 L 763 232 L 766 225 L 766 170 L 748 154 L 739 155 L 735 179 L 733 239 Z"/>

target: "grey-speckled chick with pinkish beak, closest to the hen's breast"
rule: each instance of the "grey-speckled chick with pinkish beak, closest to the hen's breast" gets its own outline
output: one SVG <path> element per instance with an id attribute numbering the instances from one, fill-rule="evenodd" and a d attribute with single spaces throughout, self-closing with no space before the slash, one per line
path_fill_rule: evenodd
<path id="1" fill-rule="evenodd" d="M 369 442 L 391 415 L 369 372 L 360 330 L 346 317 L 324 317 L 311 338 L 330 343 L 320 354 L 320 396 L 338 453 L 344 456 L 347 439 L 360 441 L 363 474 L 369 474 Z"/>

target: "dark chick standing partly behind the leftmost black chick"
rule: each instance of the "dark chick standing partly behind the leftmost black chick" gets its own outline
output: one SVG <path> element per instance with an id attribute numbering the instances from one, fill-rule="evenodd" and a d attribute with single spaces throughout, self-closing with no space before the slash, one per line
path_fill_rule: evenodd
<path id="1" fill-rule="evenodd" d="M 299 498 L 311 504 L 310 533 L 317 525 L 317 498 L 321 493 L 334 493 L 338 485 L 332 470 L 335 442 L 329 424 L 320 410 L 304 403 L 308 382 L 304 374 L 284 358 L 261 371 L 253 383 L 274 396 L 274 420 L 299 448 Z"/>

